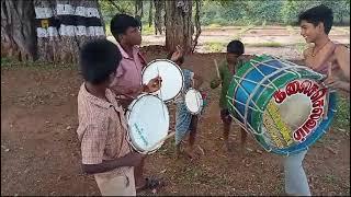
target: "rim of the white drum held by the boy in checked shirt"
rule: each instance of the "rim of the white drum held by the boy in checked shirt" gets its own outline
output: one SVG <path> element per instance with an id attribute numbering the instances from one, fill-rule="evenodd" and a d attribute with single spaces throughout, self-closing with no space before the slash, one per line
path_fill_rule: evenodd
<path id="1" fill-rule="evenodd" d="M 170 117 L 168 107 L 167 107 L 167 105 L 165 104 L 165 102 L 163 102 L 161 99 L 159 99 L 157 95 L 154 95 L 154 94 L 150 94 L 150 93 L 141 93 L 141 94 L 139 94 L 139 95 L 128 105 L 128 107 L 127 107 L 128 111 L 126 112 L 126 121 L 127 121 L 127 128 L 128 128 L 128 130 L 126 131 L 126 132 L 127 132 L 127 135 L 126 135 L 126 136 L 127 136 L 127 142 L 129 143 L 129 146 L 131 146 L 135 151 L 137 151 L 137 152 L 139 152 L 139 153 L 144 153 L 146 150 L 141 150 L 141 149 L 137 148 L 137 147 L 133 143 L 133 141 L 132 141 L 132 137 L 131 137 L 131 134 L 129 134 L 129 132 L 131 132 L 129 115 L 131 115 L 131 112 L 132 112 L 133 107 L 135 106 L 136 102 L 139 101 L 141 97 L 145 97 L 145 96 L 154 96 L 154 97 L 160 100 L 161 103 L 162 103 L 162 105 L 166 106 L 168 117 Z M 170 123 L 168 121 L 168 130 L 169 130 L 169 124 L 170 124 Z M 157 146 L 157 147 L 155 147 L 152 150 L 148 151 L 148 153 L 155 153 L 159 148 L 161 148 L 161 146 L 163 144 L 163 142 L 165 142 L 165 141 L 160 142 L 159 146 Z"/>

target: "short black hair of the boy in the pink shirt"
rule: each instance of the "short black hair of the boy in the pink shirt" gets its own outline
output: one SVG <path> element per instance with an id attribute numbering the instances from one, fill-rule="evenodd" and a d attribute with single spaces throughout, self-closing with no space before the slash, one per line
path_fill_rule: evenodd
<path id="1" fill-rule="evenodd" d="M 117 36 L 124 34 L 128 27 L 140 26 L 140 21 L 127 14 L 115 14 L 110 23 L 111 33 L 116 39 Z"/>

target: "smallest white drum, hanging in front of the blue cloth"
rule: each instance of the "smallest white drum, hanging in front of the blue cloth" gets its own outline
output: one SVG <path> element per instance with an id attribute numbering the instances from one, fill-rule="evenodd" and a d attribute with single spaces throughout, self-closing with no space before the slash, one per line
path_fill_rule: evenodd
<path id="1" fill-rule="evenodd" d="M 185 93 L 184 103 L 188 111 L 193 115 L 200 114 L 204 106 L 204 100 L 201 93 L 192 88 Z"/>

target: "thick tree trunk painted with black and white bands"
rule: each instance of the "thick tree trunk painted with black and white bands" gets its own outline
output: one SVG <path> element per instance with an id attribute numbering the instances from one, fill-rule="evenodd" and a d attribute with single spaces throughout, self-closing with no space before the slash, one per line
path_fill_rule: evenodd
<path id="1" fill-rule="evenodd" d="M 79 48 L 105 37 L 98 0 L 35 0 L 39 59 L 78 62 Z"/>

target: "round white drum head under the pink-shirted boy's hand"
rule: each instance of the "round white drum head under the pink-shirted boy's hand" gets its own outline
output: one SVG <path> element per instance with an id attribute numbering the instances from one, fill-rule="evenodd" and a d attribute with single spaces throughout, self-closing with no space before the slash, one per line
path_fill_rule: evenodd
<path id="1" fill-rule="evenodd" d="M 162 79 L 161 88 L 159 91 L 151 94 L 157 95 L 166 103 L 174 100 L 184 85 L 182 70 L 173 61 L 168 59 L 156 59 L 143 69 L 141 83 L 147 84 L 151 79 L 158 76 Z"/>

